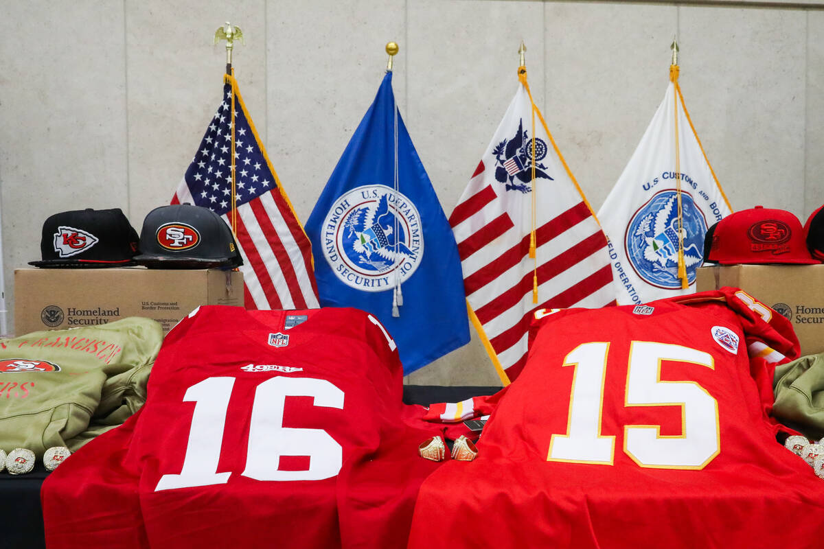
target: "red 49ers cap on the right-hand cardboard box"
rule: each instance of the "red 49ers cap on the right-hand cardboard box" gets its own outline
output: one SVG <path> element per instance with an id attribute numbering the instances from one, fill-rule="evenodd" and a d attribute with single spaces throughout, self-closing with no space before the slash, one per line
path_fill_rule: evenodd
<path id="1" fill-rule="evenodd" d="M 793 213 L 756 206 L 732 213 L 709 227 L 704 261 L 737 263 L 820 263 L 804 242 L 801 221 Z"/>

